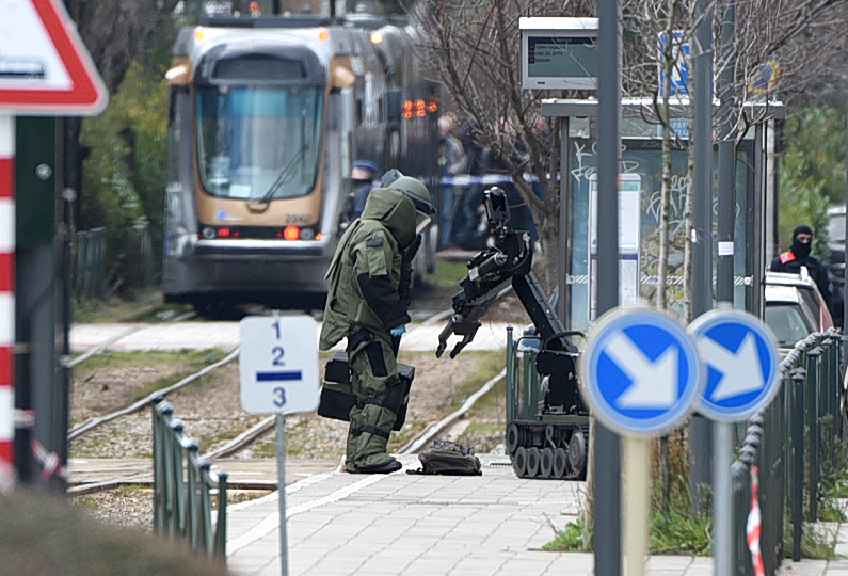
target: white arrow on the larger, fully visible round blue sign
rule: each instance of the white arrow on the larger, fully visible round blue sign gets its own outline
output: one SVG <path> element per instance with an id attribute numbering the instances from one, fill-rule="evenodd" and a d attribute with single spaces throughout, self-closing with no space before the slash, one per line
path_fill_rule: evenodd
<path id="1" fill-rule="evenodd" d="M 618 397 L 621 408 L 668 408 L 677 400 L 677 349 L 669 347 L 651 361 L 630 338 L 621 333 L 609 339 L 604 352 L 633 384 Z"/>

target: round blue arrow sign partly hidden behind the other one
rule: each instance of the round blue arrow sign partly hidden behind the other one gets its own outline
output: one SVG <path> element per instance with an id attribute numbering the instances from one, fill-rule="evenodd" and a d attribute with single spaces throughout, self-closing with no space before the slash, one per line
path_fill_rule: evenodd
<path id="1" fill-rule="evenodd" d="M 739 310 L 711 310 L 692 322 L 707 383 L 696 407 L 714 420 L 744 420 L 768 406 L 780 387 L 774 335 Z"/>

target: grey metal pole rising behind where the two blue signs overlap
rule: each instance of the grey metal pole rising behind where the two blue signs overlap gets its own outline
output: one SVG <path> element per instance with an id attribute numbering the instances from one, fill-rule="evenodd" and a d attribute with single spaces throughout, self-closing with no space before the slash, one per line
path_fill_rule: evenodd
<path id="1" fill-rule="evenodd" d="M 698 0 L 697 52 L 692 57 L 692 318 L 713 307 L 713 19 L 712 2 Z M 710 483 L 710 422 L 695 414 L 689 425 L 692 510 L 701 513 L 702 488 Z"/>

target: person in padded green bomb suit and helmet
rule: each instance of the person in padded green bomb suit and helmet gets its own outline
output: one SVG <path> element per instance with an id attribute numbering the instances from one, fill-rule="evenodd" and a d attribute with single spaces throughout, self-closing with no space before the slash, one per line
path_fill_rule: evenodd
<path id="1" fill-rule="evenodd" d="M 362 216 L 344 233 L 327 271 L 330 281 L 319 347 L 347 338 L 351 390 L 345 467 L 388 474 L 401 463 L 386 451 L 404 402 L 398 376 L 400 337 L 410 321 L 412 260 L 435 214 L 427 187 L 390 170 L 372 190 Z"/>

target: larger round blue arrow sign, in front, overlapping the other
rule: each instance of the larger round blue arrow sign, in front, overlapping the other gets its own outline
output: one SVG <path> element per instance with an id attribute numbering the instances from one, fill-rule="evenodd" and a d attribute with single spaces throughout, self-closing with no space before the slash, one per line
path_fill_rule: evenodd
<path id="1" fill-rule="evenodd" d="M 592 413 L 634 436 L 658 434 L 686 418 L 705 375 L 692 337 L 648 308 L 604 314 L 589 333 L 580 369 Z"/>

